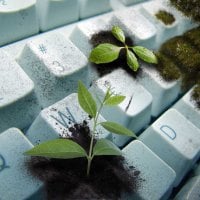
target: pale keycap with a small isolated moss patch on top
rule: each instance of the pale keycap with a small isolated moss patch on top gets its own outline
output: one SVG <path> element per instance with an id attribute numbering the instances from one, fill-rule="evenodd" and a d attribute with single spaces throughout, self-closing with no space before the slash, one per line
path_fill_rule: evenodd
<path id="1" fill-rule="evenodd" d="M 158 14 L 159 11 L 165 11 L 167 13 L 170 13 L 174 17 L 174 22 L 172 24 L 165 24 L 164 22 L 162 22 L 160 19 L 156 17 L 156 14 Z M 160 44 L 164 43 L 167 39 L 179 34 L 178 32 L 179 20 L 176 18 L 173 12 L 171 13 L 169 6 L 168 7 L 163 6 L 162 2 L 151 1 L 151 2 L 143 3 L 141 5 L 141 13 L 149 21 L 151 21 L 157 29 L 156 49 L 158 49 Z"/>

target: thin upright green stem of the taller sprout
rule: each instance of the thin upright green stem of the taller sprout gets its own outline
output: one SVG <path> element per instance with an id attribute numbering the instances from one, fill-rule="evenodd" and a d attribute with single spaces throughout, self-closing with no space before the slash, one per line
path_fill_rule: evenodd
<path id="1" fill-rule="evenodd" d="M 91 141 L 90 141 L 90 149 L 89 149 L 89 155 L 87 157 L 88 159 L 88 164 L 87 164 L 87 176 L 90 175 L 90 168 L 91 168 L 91 162 L 92 162 L 92 159 L 93 159 L 93 143 L 94 143 L 94 136 L 95 136 L 95 132 L 96 132 L 96 127 L 97 127 L 97 121 L 98 121 L 98 118 L 99 118 L 99 115 L 100 115 L 100 112 L 101 112 L 101 109 L 103 108 L 103 105 L 104 105 L 104 101 L 101 102 L 101 105 L 99 107 L 99 110 L 97 111 L 97 114 L 94 118 L 94 125 L 93 125 L 93 129 L 92 129 L 92 137 L 91 137 Z"/>

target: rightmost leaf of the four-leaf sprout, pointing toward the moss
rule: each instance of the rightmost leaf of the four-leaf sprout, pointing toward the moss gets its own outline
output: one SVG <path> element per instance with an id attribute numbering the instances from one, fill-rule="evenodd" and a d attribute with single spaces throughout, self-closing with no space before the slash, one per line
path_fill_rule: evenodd
<path id="1" fill-rule="evenodd" d="M 151 50 L 142 46 L 135 46 L 132 47 L 132 49 L 136 53 L 136 55 L 145 62 L 154 64 L 158 63 L 157 57 Z"/>

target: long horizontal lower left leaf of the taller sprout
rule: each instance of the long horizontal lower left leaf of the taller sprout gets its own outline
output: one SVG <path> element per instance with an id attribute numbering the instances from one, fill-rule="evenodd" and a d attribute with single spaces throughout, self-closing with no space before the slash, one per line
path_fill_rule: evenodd
<path id="1" fill-rule="evenodd" d="M 61 159 L 87 157 L 87 153 L 79 144 L 68 139 L 55 139 L 44 142 L 26 151 L 25 154 Z"/>

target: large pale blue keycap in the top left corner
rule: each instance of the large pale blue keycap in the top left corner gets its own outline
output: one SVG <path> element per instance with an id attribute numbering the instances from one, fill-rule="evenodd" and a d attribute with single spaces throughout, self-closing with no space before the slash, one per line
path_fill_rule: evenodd
<path id="1" fill-rule="evenodd" d="M 0 27 L 0 46 L 37 34 L 36 0 L 1 0 Z"/>

